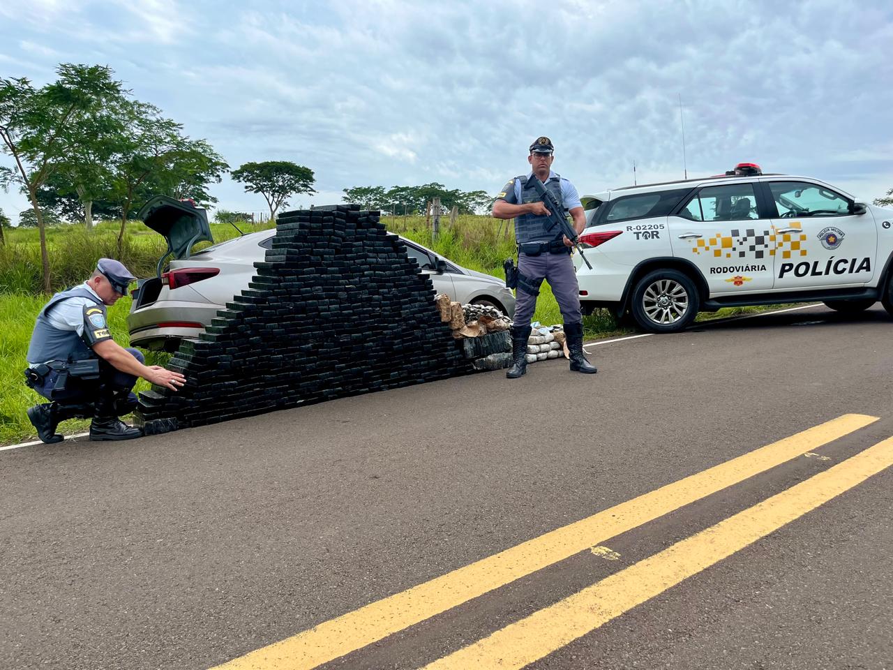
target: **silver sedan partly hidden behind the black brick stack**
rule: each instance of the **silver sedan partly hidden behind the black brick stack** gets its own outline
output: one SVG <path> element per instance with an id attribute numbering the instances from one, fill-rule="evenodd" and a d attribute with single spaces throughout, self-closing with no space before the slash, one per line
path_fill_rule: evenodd
<path id="1" fill-rule="evenodd" d="M 171 260 L 167 272 L 139 282 L 127 324 L 130 344 L 174 351 L 180 339 L 195 339 L 255 276 L 255 261 L 263 261 L 276 230 L 262 230 L 230 239 L 184 260 Z M 505 281 L 468 270 L 411 240 L 401 238 L 406 252 L 435 293 L 447 293 L 463 304 L 495 306 L 514 314 L 514 296 Z M 433 299 L 434 294 L 431 294 Z"/>

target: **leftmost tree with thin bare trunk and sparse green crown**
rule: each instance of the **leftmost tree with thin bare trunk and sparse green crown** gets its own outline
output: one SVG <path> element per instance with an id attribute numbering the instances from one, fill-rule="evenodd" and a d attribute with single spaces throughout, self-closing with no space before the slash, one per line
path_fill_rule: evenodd
<path id="1" fill-rule="evenodd" d="M 82 121 L 106 99 L 120 99 L 121 82 L 101 65 L 63 63 L 59 79 L 34 88 L 25 78 L 0 79 L 0 139 L 3 151 L 13 156 L 14 168 L 0 168 L 0 184 L 19 183 L 28 192 L 40 230 L 43 288 L 51 288 L 43 212 L 38 189 L 75 150 L 83 138 Z"/>

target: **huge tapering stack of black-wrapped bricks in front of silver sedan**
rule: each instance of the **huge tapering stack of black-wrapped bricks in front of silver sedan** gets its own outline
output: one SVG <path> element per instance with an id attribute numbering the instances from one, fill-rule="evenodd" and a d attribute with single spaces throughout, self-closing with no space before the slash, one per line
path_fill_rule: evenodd
<path id="1" fill-rule="evenodd" d="M 146 434 L 471 373 L 434 287 L 377 212 L 280 215 L 254 279 L 168 367 L 179 392 L 140 394 Z"/>

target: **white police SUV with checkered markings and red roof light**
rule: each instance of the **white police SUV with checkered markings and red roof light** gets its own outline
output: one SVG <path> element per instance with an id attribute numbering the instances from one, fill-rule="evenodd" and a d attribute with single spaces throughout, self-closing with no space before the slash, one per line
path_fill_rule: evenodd
<path id="1" fill-rule="evenodd" d="M 677 332 L 699 310 L 822 301 L 893 314 L 893 209 L 754 163 L 706 179 L 581 198 L 574 254 L 584 314 L 608 307 L 645 331 Z"/>

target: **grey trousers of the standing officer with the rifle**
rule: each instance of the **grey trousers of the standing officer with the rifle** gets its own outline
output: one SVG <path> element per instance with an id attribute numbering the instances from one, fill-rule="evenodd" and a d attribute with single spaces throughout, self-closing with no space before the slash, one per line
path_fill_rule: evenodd
<path id="1" fill-rule="evenodd" d="M 552 287 L 565 323 L 580 323 L 580 286 L 577 284 L 577 271 L 569 254 L 518 255 L 518 270 L 531 280 L 545 278 Z M 514 325 L 518 328 L 530 326 L 530 319 L 537 308 L 537 297 L 520 287 L 515 291 L 517 302 L 514 305 Z"/>

